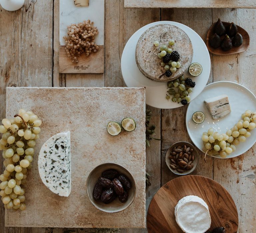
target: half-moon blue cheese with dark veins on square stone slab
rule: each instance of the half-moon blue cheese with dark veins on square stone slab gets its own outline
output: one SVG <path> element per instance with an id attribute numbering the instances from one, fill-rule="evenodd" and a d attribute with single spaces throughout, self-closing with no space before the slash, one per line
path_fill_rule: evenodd
<path id="1" fill-rule="evenodd" d="M 38 171 L 47 188 L 59 196 L 71 192 L 70 132 L 61 132 L 49 138 L 38 156 Z"/>

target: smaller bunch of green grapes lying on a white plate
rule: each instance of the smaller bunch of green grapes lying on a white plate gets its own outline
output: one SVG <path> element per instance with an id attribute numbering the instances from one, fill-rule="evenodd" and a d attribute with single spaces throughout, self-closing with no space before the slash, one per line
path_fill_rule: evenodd
<path id="1" fill-rule="evenodd" d="M 225 158 L 227 155 L 236 150 L 236 146 L 240 142 L 245 142 L 247 137 L 251 136 L 251 130 L 256 126 L 256 112 L 250 110 L 242 114 L 234 127 L 227 130 L 226 133 L 214 132 L 213 128 L 209 128 L 208 132 L 203 132 L 202 140 L 204 146 L 210 155 L 220 155 Z"/>

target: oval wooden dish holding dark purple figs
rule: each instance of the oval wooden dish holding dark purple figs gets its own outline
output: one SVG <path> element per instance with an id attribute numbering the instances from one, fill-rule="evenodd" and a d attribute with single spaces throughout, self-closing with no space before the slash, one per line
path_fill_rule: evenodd
<path id="1" fill-rule="evenodd" d="M 224 26 L 227 28 L 230 23 L 228 22 L 222 22 L 224 24 Z M 228 51 L 223 51 L 221 49 L 221 47 L 214 49 L 210 46 L 210 39 L 213 36 L 213 30 L 214 30 L 214 26 L 216 23 L 212 24 L 212 26 L 209 28 L 208 32 L 207 32 L 207 37 L 206 37 L 206 46 L 207 49 L 209 50 L 210 53 L 212 54 L 216 54 L 216 55 L 230 55 L 230 54 L 235 54 L 235 53 L 241 53 L 244 52 L 245 50 L 247 50 L 249 48 L 250 45 L 250 37 L 249 34 L 241 27 L 239 27 L 237 25 L 237 29 L 238 32 L 242 35 L 243 37 L 243 44 L 239 47 L 233 47 L 232 49 L 228 50 Z M 221 40 L 223 40 L 225 37 L 225 35 L 221 36 Z"/>

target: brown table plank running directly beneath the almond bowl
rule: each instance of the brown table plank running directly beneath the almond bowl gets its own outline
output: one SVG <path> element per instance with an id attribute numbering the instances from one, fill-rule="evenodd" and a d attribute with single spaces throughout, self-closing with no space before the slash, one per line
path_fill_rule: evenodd
<path id="1" fill-rule="evenodd" d="M 180 17 L 182 15 L 182 17 Z M 204 17 L 202 17 L 204 15 Z M 161 20 L 177 21 L 185 24 L 196 31 L 204 40 L 207 29 L 212 24 L 211 9 L 162 9 Z M 208 77 L 205 77 L 208 78 Z M 209 81 L 212 81 L 210 75 Z M 163 96 L 164 98 L 164 96 Z M 177 141 L 191 142 L 185 124 L 187 107 L 177 109 L 161 110 L 162 125 L 162 177 L 161 184 L 178 177 L 174 175 L 165 163 L 167 149 Z M 203 175 L 212 178 L 212 159 L 209 158 L 207 164 L 203 161 L 203 153 L 199 153 L 200 159 L 196 170 L 192 174 Z"/>

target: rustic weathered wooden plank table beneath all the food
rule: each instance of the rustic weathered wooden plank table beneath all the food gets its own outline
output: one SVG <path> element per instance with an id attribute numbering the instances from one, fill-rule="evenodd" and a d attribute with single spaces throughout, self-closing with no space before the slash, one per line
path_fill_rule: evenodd
<path id="1" fill-rule="evenodd" d="M 183 23 L 204 40 L 207 29 L 219 17 L 234 21 L 251 37 L 246 52 L 229 56 L 211 55 L 212 72 L 209 83 L 228 80 L 240 83 L 256 94 L 256 28 L 255 9 L 125 9 L 124 0 L 105 2 L 105 73 L 72 75 L 58 71 L 58 2 L 26 0 L 23 9 L 7 12 L 0 8 L 0 117 L 5 116 L 5 87 L 122 87 L 120 58 L 126 41 L 140 27 L 159 20 Z M 147 148 L 147 171 L 152 185 L 147 189 L 147 205 L 155 192 L 176 177 L 165 164 L 165 152 L 176 141 L 191 141 L 185 126 L 186 107 L 153 112 L 157 137 Z M 193 174 L 213 178 L 233 197 L 239 212 L 239 232 L 253 233 L 255 219 L 254 145 L 245 154 L 233 159 L 200 160 Z M 203 154 L 201 153 L 203 157 Z M 2 156 L 0 158 L 2 163 Z M 2 170 L 2 169 L 0 169 Z M 43 210 L 42 210 L 43 211 Z M 5 228 L 4 208 L 0 205 L 0 232 L 87 232 L 86 229 Z M 144 229 L 123 229 L 123 233 L 146 232 Z"/>

